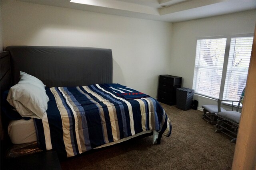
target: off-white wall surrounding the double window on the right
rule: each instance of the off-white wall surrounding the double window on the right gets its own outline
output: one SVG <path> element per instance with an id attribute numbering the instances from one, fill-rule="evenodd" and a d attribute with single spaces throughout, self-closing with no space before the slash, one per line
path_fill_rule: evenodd
<path id="1" fill-rule="evenodd" d="M 192 88 L 198 37 L 254 33 L 256 10 L 173 23 L 169 74 L 183 77 L 183 87 Z M 198 107 L 215 100 L 194 95 Z"/>

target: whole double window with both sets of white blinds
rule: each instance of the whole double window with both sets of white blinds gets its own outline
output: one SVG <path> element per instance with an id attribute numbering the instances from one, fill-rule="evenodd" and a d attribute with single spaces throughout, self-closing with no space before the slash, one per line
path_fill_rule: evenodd
<path id="1" fill-rule="evenodd" d="M 193 89 L 210 98 L 239 100 L 246 86 L 253 37 L 198 39 Z"/>

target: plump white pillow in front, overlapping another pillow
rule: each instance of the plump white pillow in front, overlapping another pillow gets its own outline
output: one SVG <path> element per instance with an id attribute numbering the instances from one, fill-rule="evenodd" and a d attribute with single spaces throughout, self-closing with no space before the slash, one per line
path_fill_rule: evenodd
<path id="1" fill-rule="evenodd" d="M 49 98 L 45 90 L 29 83 L 18 83 L 9 90 L 7 101 L 22 117 L 41 118 L 47 110 Z"/>

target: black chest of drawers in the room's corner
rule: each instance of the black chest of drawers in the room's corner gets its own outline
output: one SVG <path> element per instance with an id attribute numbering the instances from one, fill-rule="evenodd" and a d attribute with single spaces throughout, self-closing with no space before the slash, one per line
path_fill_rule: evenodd
<path id="1" fill-rule="evenodd" d="M 158 83 L 158 102 L 176 105 L 176 89 L 181 87 L 182 77 L 160 75 Z"/>

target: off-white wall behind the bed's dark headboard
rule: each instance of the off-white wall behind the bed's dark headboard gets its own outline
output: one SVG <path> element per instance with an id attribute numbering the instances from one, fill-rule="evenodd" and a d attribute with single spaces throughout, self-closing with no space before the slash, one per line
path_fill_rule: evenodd
<path id="1" fill-rule="evenodd" d="M 82 10 L 1 1 L 3 46 L 112 49 L 113 82 L 156 97 L 158 75 L 170 63 L 172 23 Z"/>

